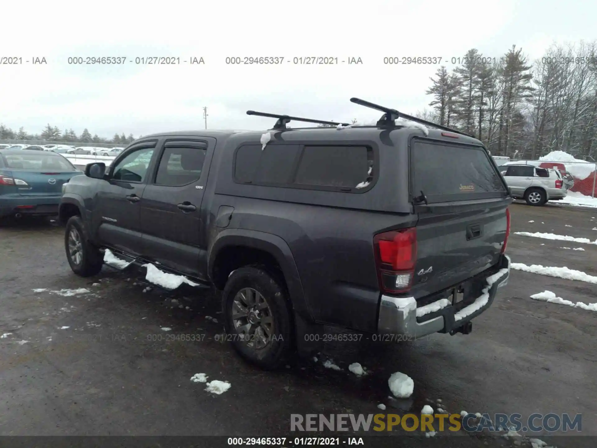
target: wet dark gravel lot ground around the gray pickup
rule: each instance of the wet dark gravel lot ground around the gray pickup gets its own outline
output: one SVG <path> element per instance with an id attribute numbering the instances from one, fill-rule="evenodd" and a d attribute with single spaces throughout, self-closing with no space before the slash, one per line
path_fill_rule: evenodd
<path id="1" fill-rule="evenodd" d="M 513 204 L 510 211 L 512 232 L 597 240 L 597 210 Z M 597 275 L 595 244 L 512 234 L 507 253 L 515 263 Z M 0 339 L 2 435 L 266 437 L 289 432 L 291 413 L 378 413 L 379 403 L 386 412 L 410 406 L 420 413 L 440 399 L 450 413 L 582 413 L 582 434 L 597 436 L 597 312 L 530 298 L 549 290 L 595 303 L 595 283 L 513 270 L 470 335 L 333 342 L 318 362 L 273 373 L 248 366 L 219 340 L 212 291 L 147 291 L 144 272 L 107 266 L 96 278 L 76 277 L 64 256 L 63 228 L 47 221 L 0 228 L 0 284 L 0 335 L 9 333 Z M 342 370 L 326 369 L 328 359 Z M 348 371 L 355 362 L 367 376 Z M 387 379 L 397 371 L 414 379 L 411 403 L 388 398 Z M 210 394 L 190 381 L 195 373 L 232 387 Z M 408 446 L 430 446 L 430 438 L 418 436 Z M 436 438 L 450 439 L 443 446 L 514 443 L 462 431 Z M 595 438 L 562 437 L 557 444 L 595 446 Z"/>

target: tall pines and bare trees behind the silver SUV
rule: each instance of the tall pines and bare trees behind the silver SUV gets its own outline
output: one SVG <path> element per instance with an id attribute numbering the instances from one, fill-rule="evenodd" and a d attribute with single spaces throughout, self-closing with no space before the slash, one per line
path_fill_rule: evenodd
<path id="1" fill-rule="evenodd" d="M 553 44 L 528 62 L 513 45 L 500 58 L 472 48 L 441 66 L 419 118 L 473 134 L 492 155 L 537 159 L 551 151 L 597 160 L 597 42 Z"/>

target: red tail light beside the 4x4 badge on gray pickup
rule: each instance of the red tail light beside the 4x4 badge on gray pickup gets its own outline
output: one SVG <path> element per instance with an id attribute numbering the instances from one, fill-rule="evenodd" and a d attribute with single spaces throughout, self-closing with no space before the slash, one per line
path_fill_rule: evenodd
<path id="1" fill-rule="evenodd" d="M 373 237 L 380 288 L 386 293 L 405 293 L 413 283 L 417 262 L 417 229 L 384 232 Z"/>

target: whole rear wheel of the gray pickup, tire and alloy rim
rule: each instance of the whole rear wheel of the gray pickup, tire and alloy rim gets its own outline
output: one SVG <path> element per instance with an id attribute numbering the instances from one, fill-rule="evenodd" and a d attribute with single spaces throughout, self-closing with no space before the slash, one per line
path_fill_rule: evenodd
<path id="1" fill-rule="evenodd" d="M 260 266 L 236 269 L 222 293 L 224 327 L 235 350 L 262 369 L 277 369 L 293 347 L 288 293 Z"/>

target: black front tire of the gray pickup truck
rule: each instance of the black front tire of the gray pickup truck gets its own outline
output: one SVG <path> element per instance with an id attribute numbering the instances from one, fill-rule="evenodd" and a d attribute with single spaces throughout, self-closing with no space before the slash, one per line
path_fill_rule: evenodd
<path id="1" fill-rule="evenodd" d="M 73 233 L 74 232 L 74 233 Z M 79 248 L 76 251 L 70 250 L 73 248 L 71 235 L 78 235 Z M 69 248 L 70 243 L 70 248 Z M 66 259 L 69 261 L 70 269 L 76 275 L 81 277 L 91 277 L 99 274 L 101 266 L 104 264 L 101 252 L 97 247 L 89 242 L 87 231 L 80 216 L 72 216 L 66 222 L 66 229 L 64 231 L 64 250 L 66 251 Z M 76 253 L 80 253 L 81 257 L 78 259 Z"/>

